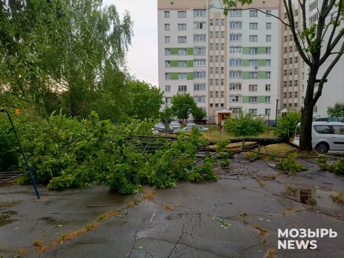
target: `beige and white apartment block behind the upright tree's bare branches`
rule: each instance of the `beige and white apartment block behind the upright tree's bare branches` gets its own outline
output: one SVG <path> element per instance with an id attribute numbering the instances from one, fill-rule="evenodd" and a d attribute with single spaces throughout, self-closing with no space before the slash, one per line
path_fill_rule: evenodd
<path id="1" fill-rule="evenodd" d="M 295 25 L 299 30 L 302 30 L 302 14 L 299 1 L 293 0 L 293 13 L 295 19 Z M 318 9 L 321 10 L 322 0 L 307 0 L 306 1 L 306 20 L 307 27 L 312 23 L 316 23 L 319 19 Z M 334 10 L 335 11 L 335 10 Z M 332 13 L 332 12 L 331 12 Z M 284 22 L 288 23 L 286 10 L 283 8 Z M 330 15 L 326 19 L 325 24 L 330 21 Z M 309 67 L 304 63 L 299 53 L 296 49 L 294 42 L 292 41 L 292 35 L 289 27 L 285 25 L 282 26 L 281 33 L 281 89 L 280 89 L 280 99 L 281 105 L 280 109 L 299 109 L 303 105 L 305 92 L 307 88 L 307 80 L 309 74 Z M 343 28 L 343 25 L 339 26 L 336 31 L 338 32 Z M 332 27 L 326 31 L 324 36 L 324 41 L 322 43 L 322 54 L 326 50 L 326 46 L 331 34 Z M 337 33 L 335 34 L 335 36 Z M 344 39 L 343 39 L 344 40 Z M 338 52 L 341 46 L 340 41 L 333 52 Z M 305 43 L 307 47 L 307 43 Z M 326 69 L 332 63 L 336 55 L 330 55 L 325 63 L 320 67 L 317 79 L 321 79 Z M 314 106 L 313 113 L 315 117 L 326 117 L 327 116 L 327 106 L 333 106 L 336 101 L 344 100 L 344 57 L 338 61 L 338 63 L 333 67 L 329 76 L 327 76 L 327 83 L 324 84 L 322 95 Z M 317 83 L 314 87 L 314 93 L 318 90 Z"/>

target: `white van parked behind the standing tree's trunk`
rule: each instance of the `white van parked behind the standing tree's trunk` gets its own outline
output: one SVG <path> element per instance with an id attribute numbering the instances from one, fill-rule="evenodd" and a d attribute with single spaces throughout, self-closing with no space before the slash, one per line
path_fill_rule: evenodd
<path id="1" fill-rule="evenodd" d="M 300 144 L 300 125 L 295 128 L 294 142 Z M 312 122 L 312 148 L 319 153 L 344 150 L 344 122 Z"/>

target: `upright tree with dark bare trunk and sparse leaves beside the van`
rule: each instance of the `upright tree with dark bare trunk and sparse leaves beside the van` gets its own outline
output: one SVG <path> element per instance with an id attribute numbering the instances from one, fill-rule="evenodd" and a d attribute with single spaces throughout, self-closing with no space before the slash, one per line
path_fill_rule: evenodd
<path id="1" fill-rule="evenodd" d="M 297 46 L 298 52 L 302 60 L 309 66 L 310 72 L 307 82 L 307 89 L 304 99 L 304 107 L 301 109 L 301 128 L 300 128 L 300 149 L 312 150 L 312 120 L 313 107 L 321 96 L 325 80 L 332 68 L 341 58 L 344 53 L 344 28 L 341 26 L 344 23 L 344 0 L 323 0 L 322 6 L 317 8 L 319 19 L 307 27 L 306 18 L 306 0 L 299 0 L 299 8 L 302 13 L 302 25 L 299 29 L 295 26 L 294 9 L 292 0 L 283 0 L 284 8 L 286 10 L 288 21 L 282 18 L 267 13 L 261 9 L 250 7 L 252 0 L 222 0 L 223 5 L 211 8 L 222 9 L 225 15 L 228 15 L 230 10 L 257 10 L 261 13 L 271 15 L 278 19 L 282 24 L 286 25 L 293 35 L 293 40 Z M 298 9 L 297 7 L 295 9 Z M 341 28 L 338 28 L 341 26 Z M 326 38 L 326 46 L 323 46 Z M 339 44 L 338 44 L 339 43 Z M 330 55 L 336 55 L 332 61 L 327 61 Z M 318 90 L 313 97 L 314 84 L 319 72 L 319 68 L 324 62 L 331 62 L 324 74 L 322 75 L 318 84 Z"/>

